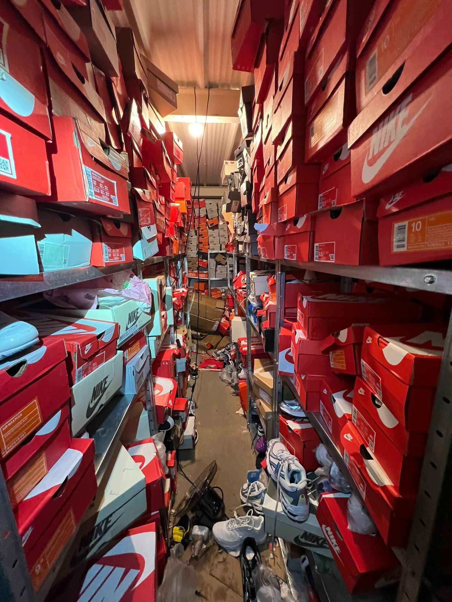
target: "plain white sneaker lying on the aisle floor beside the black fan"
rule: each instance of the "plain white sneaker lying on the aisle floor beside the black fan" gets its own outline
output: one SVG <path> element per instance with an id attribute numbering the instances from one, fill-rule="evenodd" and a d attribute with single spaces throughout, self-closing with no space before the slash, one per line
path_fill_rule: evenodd
<path id="1" fill-rule="evenodd" d="M 227 552 L 236 554 L 240 552 L 242 543 L 247 537 L 253 537 L 257 545 L 263 544 L 267 537 L 263 517 L 254 517 L 253 510 L 244 517 L 237 517 L 234 512 L 234 518 L 215 523 L 212 534 L 218 545 Z"/>

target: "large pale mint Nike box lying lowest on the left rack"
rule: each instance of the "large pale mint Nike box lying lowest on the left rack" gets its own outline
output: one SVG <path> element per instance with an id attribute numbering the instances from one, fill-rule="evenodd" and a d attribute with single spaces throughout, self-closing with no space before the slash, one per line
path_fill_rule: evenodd
<path id="1" fill-rule="evenodd" d="M 138 464 L 119 444 L 115 464 L 109 468 L 96 497 L 78 526 L 69 562 L 72 567 L 96 554 L 127 529 L 147 509 L 146 480 Z"/>

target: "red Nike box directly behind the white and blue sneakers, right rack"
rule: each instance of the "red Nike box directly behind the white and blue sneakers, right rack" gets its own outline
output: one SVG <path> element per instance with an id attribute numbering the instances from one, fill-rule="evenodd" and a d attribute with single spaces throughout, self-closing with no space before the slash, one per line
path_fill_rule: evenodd
<path id="1" fill-rule="evenodd" d="M 279 417 L 281 443 L 298 458 L 304 470 L 318 468 L 314 450 L 321 443 L 314 427 L 307 418 Z"/>

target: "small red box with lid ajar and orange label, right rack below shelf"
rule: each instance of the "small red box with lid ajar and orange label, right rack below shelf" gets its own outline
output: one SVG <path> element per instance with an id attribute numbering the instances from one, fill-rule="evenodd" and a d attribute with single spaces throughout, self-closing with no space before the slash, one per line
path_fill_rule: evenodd
<path id="1" fill-rule="evenodd" d="M 349 326 L 333 332 L 322 343 L 330 357 L 331 370 L 344 374 L 361 374 L 361 348 L 365 326 Z"/>

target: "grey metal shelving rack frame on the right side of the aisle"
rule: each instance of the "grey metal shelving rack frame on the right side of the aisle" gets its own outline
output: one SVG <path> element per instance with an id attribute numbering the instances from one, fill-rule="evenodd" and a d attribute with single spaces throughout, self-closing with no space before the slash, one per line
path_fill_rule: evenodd
<path id="1" fill-rule="evenodd" d="M 233 253 L 233 258 L 238 255 Z M 443 262 L 440 265 L 419 265 L 413 267 L 383 267 L 378 265 L 337 265 L 330 262 L 297 262 L 287 259 L 265 259 L 259 256 L 246 256 L 246 299 L 250 294 L 251 262 L 274 265 L 277 280 L 276 333 L 283 321 L 281 307 L 284 305 L 285 270 L 314 270 L 331 275 L 341 276 L 345 287 L 350 286 L 351 279 L 362 279 L 383 284 L 392 284 L 415 290 L 452 295 L 452 264 Z M 235 275 L 236 272 L 234 272 Z M 233 293 L 230 286 L 231 293 Z M 350 290 L 350 288 L 345 288 Z M 237 301 L 235 301 L 237 308 Z M 248 403 L 252 390 L 251 347 L 250 340 L 254 333 L 259 334 L 248 315 L 245 306 L 240 308 L 246 315 L 246 337 L 248 341 Z M 274 399 L 272 403 L 272 433 L 278 433 L 278 406 L 281 401 L 282 380 L 278 375 L 278 336 L 275 334 L 274 359 Z M 291 379 L 284 377 L 284 384 L 289 386 L 293 395 L 298 398 Z M 249 412 L 250 414 L 250 412 Z M 344 474 L 349 478 L 356 493 L 360 492 L 348 473 L 341 453 L 333 444 L 325 429 L 321 416 L 317 413 L 307 414 L 320 438 L 324 442 L 331 457 L 337 462 Z M 249 418 L 248 418 L 249 420 Z M 397 602 L 428 602 L 430 600 L 452 599 L 452 551 L 448 544 L 452 518 L 450 500 L 452 498 L 452 316 L 445 339 L 444 355 L 441 371 L 436 386 L 427 446 L 422 464 L 421 479 L 413 516 L 409 542 L 404 550 L 395 549 L 395 553 L 403 565 Z M 319 577 L 319 576 L 318 576 Z M 333 600 L 322 597 L 323 600 Z M 354 598 L 353 598 L 354 599 Z"/>

